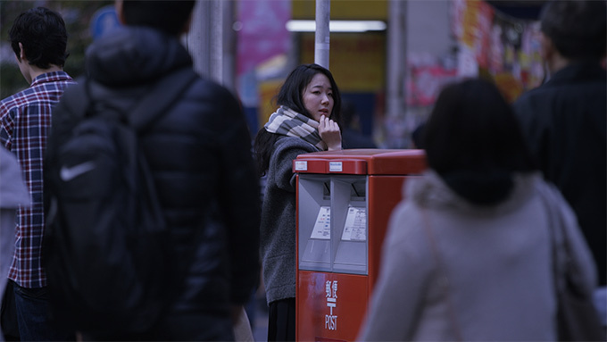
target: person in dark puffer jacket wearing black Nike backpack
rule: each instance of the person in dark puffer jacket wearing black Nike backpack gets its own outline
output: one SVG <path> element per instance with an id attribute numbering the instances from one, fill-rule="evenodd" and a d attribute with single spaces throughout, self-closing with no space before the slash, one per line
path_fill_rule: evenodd
<path id="1" fill-rule="evenodd" d="M 110 216 L 111 210 L 122 209 L 120 203 L 107 204 L 100 198 L 102 194 L 112 195 L 108 188 L 115 184 L 104 184 L 101 178 L 97 178 L 101 184 L 90 184 L 96 179 L 90 176 L 100 168 L 111 168 L 112 160 L 102 164 L 94 157 L 90 161 L 80 159 L 71 163 L 65 157 L 68 154 L 65 151 L 77 149 L 79 134 L 85 137 L 83 131 L 87 129 L 93 131 L 106 123 L 111 130 L 125 125 L 112 130 L 121 139 L 114 143 L 110 141 L 109 145 L 100 141 L 101 151 L 106 145 L 109 149 L 128 147 L 123 138 L 132 137 L 127 130 L 137 126 L 137 141 L 131 141 L 130 145 L 138 150 L 131 156 L 141 154 L 146 160 L 153 183 L 149 188 L 154 188 L 146 196 L 154 196 L 154 192 L 157 195 L 162 216 L 158 221 L 164 221 L 169 232 L 163 240 L 169 247 L 166 254 L 170 258 L 169 267 L 166 266 L 167 259 L 158 261 L 158 270 L 166 271 L 162 277 L 170 280 L 165 288 L 168 304 L 163 306 L 162 312 L 157 317 L 152 312 L 154 308 L 135 312 L 131 315 L 133 323 L 124 324 L 120 329 L 109 323 L 112 317 L 103 313 L 90 311 L 88 322 L 87 317 L 74 317 L 79 313 L 71 313 L 71 318 L 79 321 L 73 328 L 86 339 L 232 340 L 234 318 L 242 312 L 242 305 L 248 301 L 257 281 L 259 189 L 250 153 L 251 139 L 240 105 L 228 89 L 197 76 L 188 83 L 187 78 L 193 73 L 192 59 L 179 42 L 179 36 L 189 29 L 194 5 L 195 1 L 117 1 L 119 19 L 126 26 L 89 47 L 87 78 L 79 80 L 79 86 L 66 93 L 55 112 L 46 155 L 48 160 L 62 164 L 61 167 L 53 165 L 47 175 L 54 185 L 48 194 L 49 212 L 55 215 L 55 220 L 49 222 L 54 230 L 49 239 L 54 243 L 45 250 L 49 259 L 54 260 L 52 269 L 61 270 L 57 265 L 70 261 L 62 255 L 75 253 L 76 247 L 68 249 L 65 245 L 70 241 L 78 244 L 78 239 L 64 239 L 60 232 L 78 233 L 74 229 L 78 222 L 88 222 L 82 226 L 81 234 L 93 247 L 112 247 L 84 237 L 87 232 L 101 232 L 100 237 L 105 238 L 104 229 L 112 229 L 111 225 L 102 225 L 105 217 L 101 214 L 93 219 L 84 217 L 83 213 L 103 213 L 98 207 L 92 208 L 91 203 L 113 205 L 107 209 Z M 185 87 L 183 91 L 177 89 L 181 87 Z M 159 107 L 167 109 L 160 110 Z M 141 121 L 137 115 L 146 116 L 154 111 L 161 113 L 151 115 L 153 120 L 137 124 Z M 116 121 L 113 116 L 120 120 Z M 96 125 L 85 127 L 81 123 L 97 119 L 99 124 Z M 105 138 L 104 131 L 97 133 Z M 94 140 L 87 136 L 87 143 Z M 85 154 L 76 156 L 86 157 Z M 125 171 L 133 169 L 132 165 L 122 167 Z M 116 177 L 119 179 L 120 175 Z M 87 186 L 79 186 L 79 182 L 84 181 Z M 129 182 L 125 184 L 129 186 Z M 67 205 L 71 205 L 72 210 L 65 211 Z M 73 209 L 78 205 L 82 208 L 81 213 Z M 115 218 L 120 219 L 120 215 Z M 148 221 L 154 224 L 154 220 Z M 136 222 L 137 225 L 140 223 Z M 100 227 L 101 230 L 95 230 Z M 107 233 L 120 232 L 108 230 Z M 144 227 L 142 234 L 158 241 L 151 235 L 149 226 Z M 137 243 L 131 242 L 134 246 Z M 129 246 L 128 240 L 126 246 Z M 112 256 L 116 255 L 108 255 L 108 263 Z M 136 260 L 137 255 L 134 256 L 133 260 Z M 156 262 L 149 263 L 154 265 Z M 115 283 L 127 281 L 127 277 L 111 274 L 106 277 Z M 85 283 L 87 279 L 72 280 L 66 286 Z M 141 288 L 133 293 L 138 296 L 156 284 L 117 286 L 131 291 L 130 285 Z M 110 287 L 112 284 L 93 290 L 98 291 L 99 296 L 105 296 Z M 74 289 L 80 292 L 82 288 L 76 286 Z M 80 293 L 91 292 L 87 291 L 82 289 Z M 87 299 L 96 300 L 92 296 Z M 90 309 L 72 304 L 79 310 Z M 107 317 L 108 321 L 99 321 L 96 317 Z M 144 323 L 138 324 L 141 321 Z"/>

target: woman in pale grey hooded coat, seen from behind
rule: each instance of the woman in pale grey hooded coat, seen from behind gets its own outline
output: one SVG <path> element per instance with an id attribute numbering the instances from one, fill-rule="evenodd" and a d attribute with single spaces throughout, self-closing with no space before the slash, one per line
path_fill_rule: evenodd
<path id="1" fill-rule="evenodd" d="M 555 340 L 553 238 L 588 291 L 595 268 L 510 105 L 489 81 L 450 85 L 422 139 L 429 170 L 392 214 L 359 339 Z"/>

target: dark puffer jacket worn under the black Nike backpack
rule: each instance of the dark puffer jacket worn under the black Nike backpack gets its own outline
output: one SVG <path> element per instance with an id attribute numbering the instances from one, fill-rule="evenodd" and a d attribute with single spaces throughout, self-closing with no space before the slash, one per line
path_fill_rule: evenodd
<path id="1" fill-rule="evenodd" d="M 179 39 L 121 29 L 87 51 L 88 77 L 110 88 L 91 97 L 126 110 L 155 80 L 191 65 Z M 52 134 L 71 129 L 75 105 L 59 104 Z M 175 260 L 188 262 L 192 232 L 204 229 L 185 290 L 154 338 L 205 339 L 212 336 L 205 330 L 229 324 L 229 304 L 245 304 L 259 275 L 259 188 L 245 118 L 226 88 L 197 79 L 142 141 L 177 241 Z M 216 224 L 201 227 L 203 214 Z"/>

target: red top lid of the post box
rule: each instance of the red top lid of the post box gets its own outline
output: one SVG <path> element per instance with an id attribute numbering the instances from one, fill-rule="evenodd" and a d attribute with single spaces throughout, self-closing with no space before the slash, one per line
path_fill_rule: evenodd
<path id="1" fill-rule="evenodd" d="M 293 171 L 299 173 L 403 175 L 426 168 L 426 154 L 420 149 L 322 151 L 300 154 L 293 161 Z"/>

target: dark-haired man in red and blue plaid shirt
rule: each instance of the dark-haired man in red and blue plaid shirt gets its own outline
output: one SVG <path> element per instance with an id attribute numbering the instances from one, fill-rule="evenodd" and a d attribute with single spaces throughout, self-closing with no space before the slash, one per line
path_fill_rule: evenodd
<path id="1" fill-rule="evenodd" d="M 21 13 L 9 32 L 12 50 L 29 88 L 0 102 L 0 142 L 21 164 L 32 205 L 20 207 L 15 254 L 8 278 L 14 288 L 21 340 L 71 340 L 47 317 L 46 274 L 41 249 L 45 228 L 43 157 L 53 105 L 75 83 L 63 71 L 67 32 L 58 13 L 37 7 Z M 6 275 L 0 275 L 5 277 Z"/>

